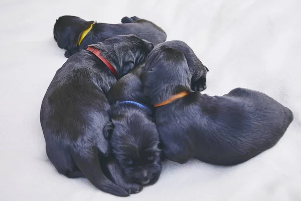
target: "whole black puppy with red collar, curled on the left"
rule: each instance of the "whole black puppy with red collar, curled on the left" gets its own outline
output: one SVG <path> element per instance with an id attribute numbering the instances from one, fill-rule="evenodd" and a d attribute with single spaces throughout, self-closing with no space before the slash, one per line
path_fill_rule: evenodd
<path id="1" fill-rule="evenodd" d="M 103 127 L 110 105 L 105 93 L 154 48 L 134 35 L 118 35 L 81 50 L 57 70 L 43 98 L 40 121 L 46 153 L 57 171 L 69 178 L 86 177 L 105 192 L 128 196 L 101 170 L 108 155 Z"/>

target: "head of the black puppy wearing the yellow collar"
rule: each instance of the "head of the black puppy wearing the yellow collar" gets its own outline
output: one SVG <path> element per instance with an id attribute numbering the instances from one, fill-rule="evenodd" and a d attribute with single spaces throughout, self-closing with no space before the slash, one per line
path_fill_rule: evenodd
<path id="1" fill-rule="evenodd" d="M 76 47 L 80 34 L 88 29 L 94 21 L 85 21 L 76 16 L 62 16 L 56 20 L 53 37 L 59 48 L 70 49 Z"/>

